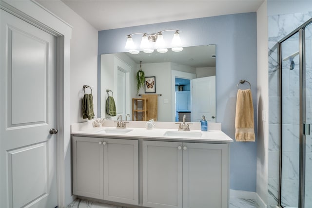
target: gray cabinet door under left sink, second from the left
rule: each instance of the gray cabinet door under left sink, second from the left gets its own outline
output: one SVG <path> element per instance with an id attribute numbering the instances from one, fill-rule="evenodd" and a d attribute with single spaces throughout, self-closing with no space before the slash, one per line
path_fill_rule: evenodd
<path id="1" fill-rule="evenodd" d="M 103 141 L 104 199 L 138 205 L 138 140 Z"/>

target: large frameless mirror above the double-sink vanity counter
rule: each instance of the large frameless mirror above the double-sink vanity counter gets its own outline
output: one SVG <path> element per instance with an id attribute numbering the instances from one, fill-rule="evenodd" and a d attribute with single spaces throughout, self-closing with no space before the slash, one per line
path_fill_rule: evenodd
<path id="1" fill-rule="evenodd" d="M 137 92 L 140 68 L 150 78 Z M 198 122 L 205 115 L 215 122 L 215 70 L 215 45 L 185 47 L 181 52 L 103 54 L 98 84 L 101 117 L 182 121 L 185 114 L 186 121 Z M 107 114 L 109 96 L 114 98 L 116 116 Z M 145 111 L 142 98 L 147 100 Z"/>

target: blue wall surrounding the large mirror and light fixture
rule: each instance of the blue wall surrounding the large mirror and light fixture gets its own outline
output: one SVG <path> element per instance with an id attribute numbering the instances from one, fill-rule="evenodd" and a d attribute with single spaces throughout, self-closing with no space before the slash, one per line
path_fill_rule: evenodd
<path id="1" fill-rule="evenodd" d="M 252 84 L 254 124 L 257 110 L 256 13 L 187 19 L 98 32 L 98 54 L 125 52 L 126 35 L 178 29 L 183 46 L 216 44 L 216 121 L 234 139 L 237 83 Z M 165 33 L 163 33 L 165 37 Z M 133 36 L 139 41 L 139 35 Z M 138 39 L 135 39 L 138 38 Z M 99 65 L 98 65 L 99 66 Z M 99 97 L 99 96 L 98 96 Z M 230 189 L 256 191 L 256 142 L 233 142 Z"/>

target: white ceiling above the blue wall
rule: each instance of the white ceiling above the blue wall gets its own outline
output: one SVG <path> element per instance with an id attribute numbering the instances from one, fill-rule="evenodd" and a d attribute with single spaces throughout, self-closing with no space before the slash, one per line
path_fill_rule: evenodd
<path id="1" fill-rule="evenodd" d="M 97 30 L 256 12 L 264 0 L 61 0 Z"/>

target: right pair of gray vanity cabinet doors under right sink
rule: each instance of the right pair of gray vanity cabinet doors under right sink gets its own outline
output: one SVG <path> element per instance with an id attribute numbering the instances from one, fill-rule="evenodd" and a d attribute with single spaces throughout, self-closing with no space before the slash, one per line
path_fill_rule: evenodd
<path id="1" fill-rule="evenodd" d="M 228 145 L 142 142 L 143 206 L 228 208 Z"/>

